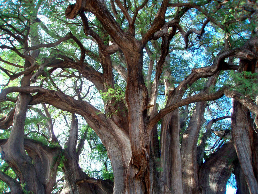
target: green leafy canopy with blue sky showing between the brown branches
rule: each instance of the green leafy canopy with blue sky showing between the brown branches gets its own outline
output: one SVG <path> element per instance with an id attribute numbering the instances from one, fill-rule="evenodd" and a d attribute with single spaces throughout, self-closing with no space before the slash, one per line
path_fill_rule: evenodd
<path id="1" fill-rule="evenodd" d="M 65 95 L 69 95 L 71 98 L 81 101 L 87 101 L 94 105 L 100 111 L 104 112 L 104 105 L 112 105 L 116 107 L 119 103 L 125 103 L 125 88 L 126 81 L 122 76 L 113 71 L 114 74 L 114 86 L 103 86 L 107 88 L 105 91 L 98 91 L 97 87 L 91 87 L 93 83 L 89 80 L 89 77 L 95 76 L 91 75 L 92 72 L 97 72 L 98 81 L 101 82 L 104 78 L 102 66 L 98 54 L 99 47 L 96 43 L 96 39 L 91 36 L 86 36 L 83 30 L 83 22 L 81 21 L 79 15 L 72 20 L 68 20 L 64 16 L 64 12 L 70 3 L 75 1 L 2 1 L 0 4 L 0 26 L 8 29 L 14 35 L 8 35 L 8 33 L 1 31 L 0 41 L 2 45 L 13 46 L 20 53 L 29 55 L 29 52 L 25 52 L 25 45 L 23 41 L 24 37 L 28 38 L 28 47 L 32 44 L 47 44 L 54 43 L 60 37 L 64 37 L 68 32 L 71 32 L 84 46 L 86 50 L 86 56 L 83 63 L 77 64 L 81 57 L 81 49 L 75 43 L 74 40 L 70 39 L 64 41 L 53 47 L 40 48 L 40 54 L 36 58 L 36 64 L 39 66 L 48 63 L 44 67 L 45 75 L 40 75 L 36 83 L 31 85 L 40 86 L 44 89 L 61 91 Z M 136 13 L 136 8 L 140 6 L 144 1 L 124 1 L 124 6 L 128 11 L 130 17 L 133 17 Z M 225 41 L 227 39 L 230 49 L 242 46 L 247 39 L 250 38 L 252 30 L 257 27 L 255 24 L 255 17 L 252 16 L 250 19 L 241 20 L 243 16 L 249 16 L 250 11 L 248 11 L 248 3 L 244 0 L 240 1 L 201 1 L 201 0 L 189 0 L 189 1 L 170 1 L 170 3 L 196 3 L 200 6 L 200 9 L 195 8 L 188 9 L 189 7 L 168 7 L 165 13 L 165 22 L 169 22 L 174 19 L 175 15 L 183 14 L 184 10 L 187 8 L 187 12 L 182 15 L 177 25 L 180 25 L 181 30 L 186 33 L 191 29 L 200 30 L 204 21 L 206 21 L 207 16 L 202 12 L 206 11 L 208 16 L 214 20 L 210 22 L 205 27 L 205 32 L 202 36 L 198 34 L 190 34 L 189 46 L 185 47 L 185 39 L 182 36 L 182 32 L 177 28 L 177 32 L 173 39 L 170 41 L 169 54 L 166 58 L 166 63 L 163 67 L 163 72 L 161 74 L 161 80 L 158 86 L 158 97 L 157 106 L 158 111 L 166 106 L 167 96 L 165 96 L 165 86 L 164 80 L 168 80 L 171 89 L 177 87 L 178 84 L 184 80 L 193 68 L 200 68 L 203 66 L 211 66 L 216 55 L 225 49 Z M 153 20 L 157 16 L 157 12 L 160 8 L 162 1 L 153 0 L 148 1 L 142 9 L 138 10 L 138 15 L 135 21 L 135 39 L 140 40 L 144 34 L 153 26 Z M 123 15 L 123 11 L 115 6 L 117 9 L 117 14 L 112 10 L 110 1 L 105 1 L 107 8 L 110 13 L 114 16 L 118 25 L 125 31 L 128 31 L 128 21 Z M 221 7 L 221 8 L 220 8 Z M 109 45 L 109 41 L 114 41 L 111 39 L 110 35 L 103 28 L 101 22 L 92 13 L 85 11 L 85 15 L 88 19 L 89 28 L 96 32 L 99 38 L 103 41 L 105 46 Z M 254 15 L 254 14 L 253 14 Z M 36 20 L 40 18 L 41 22 Z M 236 20 L 237 22 L 230 22 Z M 228 24 L 226 24 L 229 22 Z M 155 25 L 155 24 L 154 24 Z M 173 25 L 172 25 L 173 26 Z M 223 26 L 221 28 L 220 26 Z M 177 26 L 178 27 L 178 26 Z M 15 30 L 17 29 L 17 30 Z M 168 32 L 172 29 L 170 26 L 167 30 Z M 26 34 L 23 36 L 21 34 Z M 150 70 L 150 61 L 153 62 L 153 69 L 150 70 L 150 80 L 145 80 L 146 86 L 151 87 L 154 77 L 155 69 L 157 68 L 157 62 L 161 57 L 161 43 L 162 39 L 148 41 L 148 49 L 150 53 L 147 53 L 147 49 L 143 52 L 143 64 L 142 64 L 142 75 L 147 76 Z M 146 47 L 147 48 L 147 47 Z M 19 73 L 24 70 L 23 66 L 25 63 L 24 58 L 17 55 L 13 50 L 1 49 L 1 58 L 5 61 L 9 61 L 12 64 L 0 62 L 1 68 L 4 68 L 8 73 L 14 74 Z M 66 57 L 67 61 L 73 61 L 73 63 L 65 64 L 65 67 L 59 67 L 58 63 L 64 60 Z M 121 65 L 124 70 L 127 70 L 126 60 L 121 50 L 111 55 L 112 62 Z M 228 59 L 225 59 L 228 62 Z M 230 59 L 231 60 L 231 59 Z M 237 59 L 233 59 L 234 64 L 238 64 Z M 77 65 L 77 66 L 74 66 Z M 86 75 L 81 72 L 85 70 Z M 87 70 L 90 70 L 89 75 Z M 33 73 L 35 73 L 34 70 Z M 165 74 L 165 71 L 169 72 Z M 84 72 L 84 73 L 85 73 Z M 166 72 L 166 73 L 167 73 Z M 15 80 L 9 80 L 6 73 L 1 72 L 1 78 L 4 80 L 4 84 L 1 85 L 1 89 L 5 89 L 11 86 L 19 86 L 21 76 Z M 166 76 L 165 76 L 166 75 Z M 102 77 L 101 77 L 102 76 Z M 100 80 L 99 80 L 100 79 Z M 112 80 L 112 81 L 113 81 Z M 189 95 L 199 93 L 204 89 L 207 78 L 201 78 L 194 82 L 191 86 L 187 85 L 183 90 L 185 94 L 183 98 Z M 250 72 L 235 73 L 231 71 L 229 74 L 222 71 L 219 75 L 218 82 L 215 86 L 209 88 L 209 92 L 217 91 L 218 88 L 229 85 L 235 91 L 242 93 L 244 96 L 255 99 L 257 94 L 257 74 L 251 74 Z M 8 83 L 8 84 L 7 84 Z M 2 84 L 2 83 L 1 83 Z M 90 88 L 91 87 L 91 88 Z M 150 88 L 148 88 L 150 89 Z M 8 97 L 15 101 L 18 93 L 10 93 Z M 102 103 L 101 99 L 104 101 Z M 5 116 L 11 108 L 15 106 L 12 102 L 1 102 L 1 118 Z M 180 135 L 182 140 L 183 134 L 187 130 L 189 123 L 189 118 L 195 109 L 196 103 L 192 103 L 187 107 L 189 114 L 185 113 L 186 107 L 180 107 L 180 116 L 186 118 L 185 123 L 181 126 Z M 209 120 L 217 118 L 219 116 L 225 116 L 230 111 L 231 101 L 226 97 L 222 97 L 215 101 L 208 102 L 205 112 L 205 118 Z M 65 141 L 69 135 L 69 119 L 71 114 L 64 111 L 56 110 L 54 107 L 48 107 L 51 118 L 44 116 L 44 110 L 38 105 L 33 105 L 33 108 L 37 107 L 40 111 L 28 110 L 27 118 L 25 122 L 25 135 L 26 138 L 35 139 L 42 142 L 44 145 L 49 147 L 58 146 L 57 143 L 48 142 L 48 129 L 47 121 L 52 119 L 54 123 L 54 130 L 58 133 L 59 143 L 64 146 Z M 112 113 L 107 113 L 107 117 L 112 117 L 112 114 L 117 114 L 120 107 L 116 107 L 116 110 L 112 110 Z M 80 118 L 83 120 L 83 118 Z M 81 121 L 83 124 L 79 124 L 79 139 L 86 136 L 86 141 L 83 149 L 83 154 L 80 156 L 80 165 L 82 169 L 94 178 L 103 179 L 114 179 L 114 174 L 112 172 L 111 162 L 107 157 L 107 150 L 101 143 L 101 140 L 87 124 L 85 120 Z M 220 122 L 213 125 L 214 130 L 230 128 L 228 122 Z M 200 142 L 201 136 L 205 132 L 205 125 L 202 126 L 199 135 L 198 143 Z M 161 133 L 161 121 L 158 123 L 158 138 L 160 140 Z M 10 135 L 10 129 L 1 130 L 1 139 L 8 138 Z M 45 135 L 45 137 L 43 136 Z M 217 137 L 211 137 L 207 143 L 207 149 L 210 149 L 214 140 Z M 78 151 L 78 150 L 77 150 Z M 206 152 L 206 157 L 212 151 Z M 57 160 L 57 158 L 55 158 Z M 62 171 L 64 156 L 61 157 L 59 170 Z M 3 164 L 6 167 L 6 164 Z M 0 167 L 3 170 L 2 166 Z M 10 168 L 9 168 L 10 169 Z M 163 169 L 157 168 L 159 172 Z M 15 178 L 15 174 L 12 170 L 5 171 L 6 174 Z M 12 174 L 13 173 L 13 174 Z M 3 192 L 8 192 L 8 187 L 0 182 L 0 187 L 3 187 Z M 23 188 L 26 185 L 22 185 Z M 0 190 L 1 192 L 1 190 Z M 26 191 L 27 192 L 27 191 Z"/>

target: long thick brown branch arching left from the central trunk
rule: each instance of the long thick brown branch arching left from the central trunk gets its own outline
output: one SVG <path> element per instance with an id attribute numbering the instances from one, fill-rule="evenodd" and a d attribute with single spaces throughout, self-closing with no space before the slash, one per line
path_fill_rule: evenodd
<path id="1" fill-rule="evenodd" d="M 117 130 L 118 127 L 112 122 L 112 120 L 107 119 L 105 114 L 103 114 L 100 110 L 87 103 L 86 101 L 75 100 L 69 95 L 65 95 L 64 93 L 60 93 L 58 91 L 48 90 L 36 86 L 28 86 L 9 87 L 2 90 L 0 93 L 0 102 L 5 101 L 6 95 L 11 92 L 20 92 L 27 94 L 37 93 L 36 95 L 32 96 L 32 100 L 29 103 L 30 105 L 47 103 L 60 110 L 79 114 L 85 118 L 91 128 L 98 131 L 98 135 L 100 137 L 102 135 L 102 132 L 106 132 L 106 130 L 110 130 L 109 132 L 116 135 L 114 129 Z"/>

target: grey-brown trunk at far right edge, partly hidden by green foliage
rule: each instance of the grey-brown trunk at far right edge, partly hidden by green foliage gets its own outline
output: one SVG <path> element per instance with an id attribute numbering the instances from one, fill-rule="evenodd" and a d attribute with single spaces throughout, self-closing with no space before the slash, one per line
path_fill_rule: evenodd
<path id="1" fill-rule="evenodd" d="M 257 43 L 258 38 L 254 37 L 248 40 L 245 44 L 245 49 L 247 49 L 251 54 L 249 58 L 240 60 L 239 72 L 258 72 Z M 257 94 L 256 91 L 254 92 Z M 236 153 L 239 158 L 239 163 L 248 185 L 249 192 L 258 193 L 258 135 L 256 132 L 257 128 L 255 126 L 256 120 L 251 119 L 250 110 L 252 107 L 250 108 L 245 103 L 240 103 L 242 102 L 241 99 L 236 99 L 233 99 L 233 112 L 231 116 L 232 138 L 234 140 Z M 256 111 L 255 113 L 257 114 L 258 112 Z M 242 176 L 242 173 L 240 173 L 240 175 Z M 242 178 L 240 177 L 240 181 L 241 180 Z"/>

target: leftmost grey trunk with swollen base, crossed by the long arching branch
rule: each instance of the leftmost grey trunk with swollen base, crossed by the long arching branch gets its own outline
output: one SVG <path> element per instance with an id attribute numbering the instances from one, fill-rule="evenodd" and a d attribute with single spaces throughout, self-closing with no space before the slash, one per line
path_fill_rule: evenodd
<path id="1" fill-rule="evenodd" d="M 27 61 L 25 68 L 30 63 Z M 21 86 L 30 84 L 30 74 L 21 79 Z M 30 94 L 20 93 L 18 96 L 13 126 L 8 141 L 1 145 L 1 157 L 5 160 L 19 177 L 21 184 L 25 184 L 27 191 L 34 193 L 45 193 L 44 186 L 40 182 L 38 174 L 33 166 L 32 160 L 24 149 L 24 123 L 26 119 L 27 106 L 31 100 Z"/>

